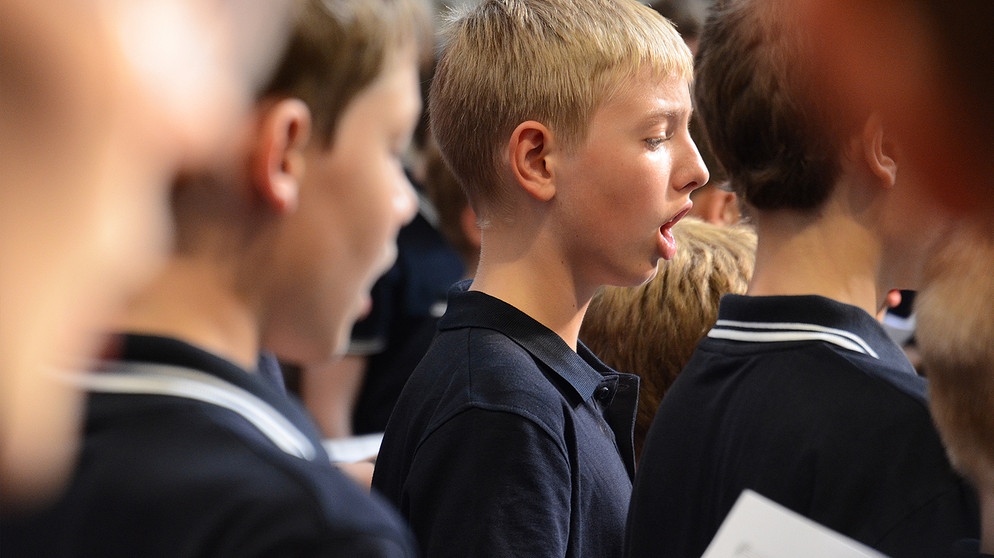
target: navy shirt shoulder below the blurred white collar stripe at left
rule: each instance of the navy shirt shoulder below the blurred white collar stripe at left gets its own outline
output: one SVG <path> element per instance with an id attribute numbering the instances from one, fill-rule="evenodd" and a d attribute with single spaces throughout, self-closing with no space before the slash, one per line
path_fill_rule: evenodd
<path id="1" fill-rule="evenodd" d="M 290 455 L 246 424 L 225 408 L 184 397 L 91 395 L 73 482 L 49 515 L 25 523 L 25 533 L 57 520 L 65 540 L 83 541 L 76 551 L 93 555 L 168 555 L 182 553 L 180 544 L 243 556 L 295 545 L 413 548 L 394 512 L 323 453 L 312 460 Z M 85 536 L 109 524 L 120 528 Z"/>

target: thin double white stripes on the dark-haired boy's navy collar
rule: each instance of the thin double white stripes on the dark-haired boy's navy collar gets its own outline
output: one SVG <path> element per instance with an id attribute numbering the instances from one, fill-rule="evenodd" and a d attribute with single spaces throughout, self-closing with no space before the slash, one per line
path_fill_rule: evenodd
<path id="1" fill-rule="evenodd" d="M 741 329 L 728 329 L 741 328 Z M 777 330 L 777 331 L 753 331 Z M 708 332 L 708 337 L 714 339 L 731 339 L 733 341 L 753 341 L 758 343 L 774 343 L 781 341 L 825 341 L 833 343 L 850 351 L 863 353 L 875 359 L 880 356 L 869 343 L 860 336 L 846 331 L 805 323 L 785 322 L 741 322 L 736 320 L 718 320 L 714 328 Z"/>

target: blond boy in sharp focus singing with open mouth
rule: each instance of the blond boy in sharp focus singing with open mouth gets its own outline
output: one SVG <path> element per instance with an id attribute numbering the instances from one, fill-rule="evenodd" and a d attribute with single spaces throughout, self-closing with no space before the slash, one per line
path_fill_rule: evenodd
<path id="1" fill-rule="evenodd" d="M 707 182 L 690 53 L 629 0 L 488 0 L 446 40 L 429 115 L 480 263 L 400 397 L 373 486 L 427 556 L 619 556 L 637 378 L 577 335 L 600 286 L 673 256 Z"/>

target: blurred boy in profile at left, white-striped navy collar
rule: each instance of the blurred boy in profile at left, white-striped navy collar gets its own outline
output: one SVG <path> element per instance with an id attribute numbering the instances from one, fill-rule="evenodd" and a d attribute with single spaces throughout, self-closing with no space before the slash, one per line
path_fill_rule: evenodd
<path id="1" fill-rule="evenodd" d="M 4 525 L 5 553 L 415 554 L 256 363 L 333 358 L 393 263 L 415 211 L 401 157 L 419 17 L 407 0 L 301 1 L 244 137 L 176 184 L 175 252 L 122 317 L 114 360 L 76 378 L 89 409 L 66 495 Z"/>

